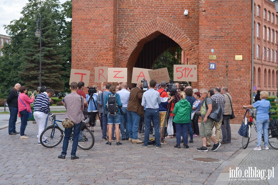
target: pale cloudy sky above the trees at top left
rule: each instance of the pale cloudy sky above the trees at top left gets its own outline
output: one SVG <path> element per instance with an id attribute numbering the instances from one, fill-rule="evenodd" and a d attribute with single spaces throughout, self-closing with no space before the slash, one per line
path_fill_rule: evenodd
<path id="1" fill-rule="evenodd" d="M 61 3 L 64 3 L 65 1 L 66 0 L 60 0 Z M 0 0 L 1 35 L 7 35 L 3 25 L 9 25 L 12 20 L 18 20 L 22 16 L 20 12 L 26 3 L 28 3 L 28 0 Z"/>

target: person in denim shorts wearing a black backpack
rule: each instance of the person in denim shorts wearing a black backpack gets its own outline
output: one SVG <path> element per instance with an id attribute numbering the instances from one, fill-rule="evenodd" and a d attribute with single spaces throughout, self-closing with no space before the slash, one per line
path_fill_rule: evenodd
<path id="1" fill-rule="evenodd" d="M 120 95 L 116 94 L 116 86 L 110 86 L 110 92 L 105 96 L 104 100 L 104 110 L 107 113 L 107 125 L 108 125 L 108 142 L 107 145 L 111 145 L 112 140 L 112 127 L 113 123 L 116 128 L 116 139 L 117 145 L 122 145 L 120 143 L 120 107 L 123 106 L 121 103 Z"/>

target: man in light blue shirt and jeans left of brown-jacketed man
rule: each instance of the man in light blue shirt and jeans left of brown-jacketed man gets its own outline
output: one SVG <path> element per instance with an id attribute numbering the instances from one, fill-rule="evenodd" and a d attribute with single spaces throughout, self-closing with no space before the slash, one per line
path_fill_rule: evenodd
<path id="1" fill-rule="evenodd" d="M 129 100 L 129 94 L 130 92 L 126 90 L 127 88 L 127 83 L 123 82 L 121 84 L 121 90 L 117 92 L 117 94 L 120 95 L 121 102 L 123 104 L 123 107 L 121 108 L 122 111 L 124 112 L 124 115 L 120 115 L 121 117 L 121 124 L 120 124 L 120 129 L 121 129 L 121 134 L 122 134 L 122 141 L 128 140 L 128 122 L 127 122 L 127 105 L 128 105 L 128 100 Z"/>

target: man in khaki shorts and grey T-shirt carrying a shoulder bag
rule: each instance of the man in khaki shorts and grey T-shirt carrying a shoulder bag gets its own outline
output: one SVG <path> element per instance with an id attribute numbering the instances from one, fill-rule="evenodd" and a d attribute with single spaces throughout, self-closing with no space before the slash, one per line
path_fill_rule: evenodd
<path id="1" fill-rule="evenodd" d="M 200 96 L 203 100 L 201 104 L 201 109 L 198 113 L 201 114 L 201 129 L 200 129 L 200 136 L 202 137 L 203 140 L 203 146 L 200 148 L 197 148 L 197 151 L 208 151 L 206 143 L 207 143 L 207 138 L 210 138 L 211 141 L 213 141 L 214 145 L 213 148 L 211 149 L 212 151 L 216 151 L 219 146 L 221 145 L 219 142 L 216 141 L 215 137 L 212 135 L 211 128 L 213 124 L 213 119 L 211 119 L 209 114 L 212 111 L 212 99 L 208 98 L 208 90 L 202 89 L 200 90 Z"/>

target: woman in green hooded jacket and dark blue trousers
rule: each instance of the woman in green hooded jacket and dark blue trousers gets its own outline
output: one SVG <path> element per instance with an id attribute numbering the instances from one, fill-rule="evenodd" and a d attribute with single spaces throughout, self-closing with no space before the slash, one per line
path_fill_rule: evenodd
<path id="1" fill-rule="evenodd" d="M 191 113 L 191 105 L 190 103 L 185 99 L 186 95 L 185 92 L 179 93 L 180 100 L 178 103 L 175 104 L 173 114 L 175 114 L 173 122 L 175 122 L 176 126 L 176 138 L 177 138 L 177 144 L 175 145 L 175 148 L 180 148 L 180 137 L 181 134 L 183 135 L 183 148 L 189 148 L 188 147 L 188 124 L 191 124 L 190 120 L 190 113 Z"/>

